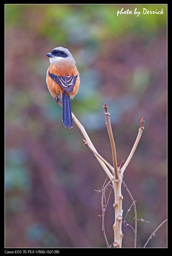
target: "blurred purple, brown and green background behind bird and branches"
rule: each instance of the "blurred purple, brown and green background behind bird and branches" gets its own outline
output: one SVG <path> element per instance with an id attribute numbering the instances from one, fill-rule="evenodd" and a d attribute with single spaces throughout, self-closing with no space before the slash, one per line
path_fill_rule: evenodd
<path id="1" fill-rule="evenodd" d="M 161 10 L 162 15 L 117 11 Z M 46 85 L 53 48 L 68 48 L 80 72 L 72 111 L 112 164 L 103 105 L 111 114 L 117 160 L 126 160 L 140 119 L 145 130 L 124 173 L 137 200 L 137 247 L 166 219 L 167 5 L 6 4 L 6 247 L 106 247 L 100 189 L 106 179 L 77 126 L 65 129 Z M 123 216 L 132 204 L 122 188 Z M 113 193 L 105 216 L 113 243 Z M 134 227 L 134 211 L 127 223 Z M 134 246 L 122 226 L 122 247 Z M 147 247 L 166 247 L 166 224 Z"/>

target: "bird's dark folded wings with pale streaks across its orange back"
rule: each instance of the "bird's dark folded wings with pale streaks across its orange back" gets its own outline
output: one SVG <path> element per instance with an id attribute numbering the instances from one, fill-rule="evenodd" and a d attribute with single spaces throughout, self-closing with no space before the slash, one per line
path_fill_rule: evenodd
<path id="1" fill-rule="evenodd" d="M 50 73 L 49 76 L 60 85 L 60 87 L 67 93 L 70 93 L 74 89 L 74 85 L 76 83 L 76 79 L 78 77 L 78 74 L 76 76 L 56 76 Z"/>

